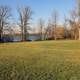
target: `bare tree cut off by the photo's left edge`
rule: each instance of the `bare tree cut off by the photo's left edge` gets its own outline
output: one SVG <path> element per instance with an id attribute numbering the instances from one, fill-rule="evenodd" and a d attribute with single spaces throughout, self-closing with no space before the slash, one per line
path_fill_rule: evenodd
<path id="1" fill-rule="evenodd" d="M 11 8 L 8 6 L 0 6 L 0 39 L 3 36 L 3 29 L 8 25 L 11 16 Z"/>

